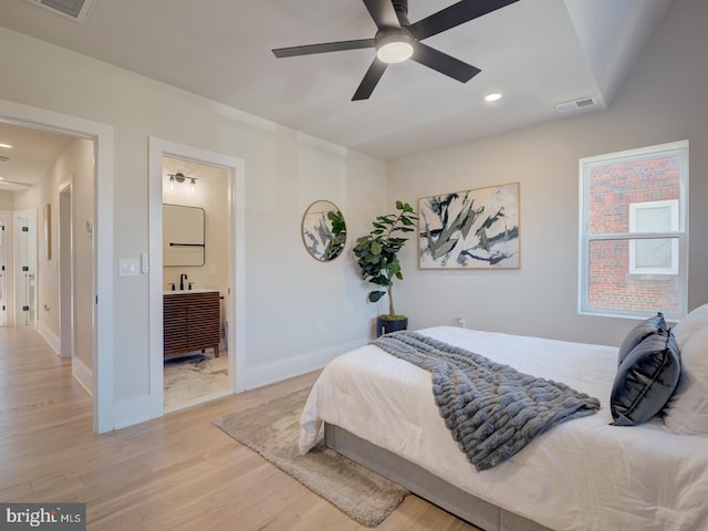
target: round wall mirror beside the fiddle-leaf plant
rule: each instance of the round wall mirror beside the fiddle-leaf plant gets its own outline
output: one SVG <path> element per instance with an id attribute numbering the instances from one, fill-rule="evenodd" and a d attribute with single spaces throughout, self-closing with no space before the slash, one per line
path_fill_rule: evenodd
<path id="1" fill-rule="evenodd" d="M 342 211 L 331 201 L 319 200 L 302 217 L 302 241 L 312 258 L 329 262 L 339 257 L 346 243 Z"/>

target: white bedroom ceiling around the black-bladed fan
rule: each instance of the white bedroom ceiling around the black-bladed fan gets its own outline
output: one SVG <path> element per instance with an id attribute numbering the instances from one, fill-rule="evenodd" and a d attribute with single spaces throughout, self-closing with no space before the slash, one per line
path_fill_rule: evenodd
<path id="1" fill-rule="evenodd" d="M 561 119 L 566 101 L 593 96 L 582 112 L 602 112 L 673 1 L 519 0 L 425 40 L 481 69 L 468 83 L 406 62 L 360 102 L 373 50 L 275 59 L 271 49 L 372 38 L 361 0 L 96 0 L 84 24 L 2 0 L 0 25 L 389 160 Z M 408 18 L 452 3 L 409 0 Z M 490 92 L 503 98 L 485 103 Z"/>

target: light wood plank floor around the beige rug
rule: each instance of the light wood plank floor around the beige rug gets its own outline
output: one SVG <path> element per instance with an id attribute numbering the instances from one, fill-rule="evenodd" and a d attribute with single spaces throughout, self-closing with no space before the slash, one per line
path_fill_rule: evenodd
<path id="1" fill-rule="evenodd" d="M 0 501 L 86 503 L 88 530 L 368 529 L 210 424 L 315 376 L 96 435 L 70 363 L 35 332 L 0 327 Z M 377 529 L 476 530 L 415 496 Z"/>

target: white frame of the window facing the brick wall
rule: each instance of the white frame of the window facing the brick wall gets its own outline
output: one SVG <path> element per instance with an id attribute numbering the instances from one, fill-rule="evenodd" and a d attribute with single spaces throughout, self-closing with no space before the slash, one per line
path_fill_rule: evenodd
<path id="1" fill-rule="evenodd" d="M 680 155 L 683 160 L 681 177 L 679 183 L 678 223 L 677 229 L 666 232 L 632 232 L 627 233 L 590 233 L 590 175 L 591 170 L 597 166 L 606 166 L 612 163 L 626 163 L 632 160 L 644 160 L 667 155 Z M 590 306 L 590 248 L 594 241 L 628 240 L 631 248 L 633 240 L 638 239 L 667 239 L 675 241 L 676 269 L 675 273 L 679 281 L 679 303 L 677 311 L 662 309 L 669 320 L 678 320 L 686 315 L 688 305 L 688 140 L 679 140 L 655 146 L 629 149 L 625 152 L 611 153 L 594 157 L 585 157 L 579 160 L 580 194 L 579 194 L 579 282 L 577 282 L 577 313 L 581 315 L 602 315 L 612 317 L 643 319 L 653 315 L 656 309 L 646 309 L 645 312 L 636 310 L 621 309 L 598 309 Z M 657 201 L 658 202 L 658 201 Z M 633 257 L 632 257 L 633 258 Z M 637 270 L 638 273 L 639 270 Z M 650 273 L 642 269 L 642 274 Z M 633 271 L 629 270 L 632 274 Z M 658 274 L 667 274 L 666 271 Z"/>

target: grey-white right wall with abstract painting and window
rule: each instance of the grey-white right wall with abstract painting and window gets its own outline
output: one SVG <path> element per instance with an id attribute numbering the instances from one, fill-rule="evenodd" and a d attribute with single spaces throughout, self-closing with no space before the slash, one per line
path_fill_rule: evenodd
<path id="1" fill-rule="evenodd" d="M 688 138 L 690 308 L 708 302 L 708 2 L 678 0 L 608 110 L 450 146 L 389 166 L 389 202 L 521 183 L 521 269 L 421 271 L 405 249 L 397 309 L 414 327 L 451 324 L 618 344 L 633 323 L 577 315 L 581 157 Z M 503 105 L 503 101 L 500 102 Z"/>

